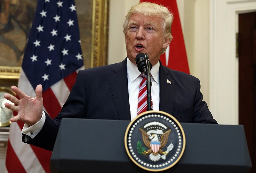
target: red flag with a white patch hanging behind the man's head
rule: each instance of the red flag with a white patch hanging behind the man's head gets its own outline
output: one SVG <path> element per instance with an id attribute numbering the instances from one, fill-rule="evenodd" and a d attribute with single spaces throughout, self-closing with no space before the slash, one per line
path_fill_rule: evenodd
<path id="1" fill-rule="evenodd" d="M 151 2 L 161 4 L 172 11 L 174 19 L 172 23 L 172 42 L 161 55 L 160 60 L 163 65 L 178 71 L 183 71 L 189 74 L 188 59 L 180 24 L 180 16 L 176 0 L 140 0 L 140 2 Z"/>

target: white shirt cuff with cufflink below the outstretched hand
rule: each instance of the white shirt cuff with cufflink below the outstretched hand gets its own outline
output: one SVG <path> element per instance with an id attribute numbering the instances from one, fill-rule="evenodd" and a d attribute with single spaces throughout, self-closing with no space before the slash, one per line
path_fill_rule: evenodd
<path id="1" fill-rule="evenodd" d="M 21 133 L 30 136 L 30 138 L 34 138 L 43 128 L 45 122 L 45 113 L 43 111 L 41 119 L 34 125 L 24 124 Z"/>

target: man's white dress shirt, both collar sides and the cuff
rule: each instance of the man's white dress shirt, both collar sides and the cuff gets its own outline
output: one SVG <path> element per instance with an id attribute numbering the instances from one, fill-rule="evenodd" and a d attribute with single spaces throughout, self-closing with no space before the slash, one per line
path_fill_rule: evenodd
<path id="1" fill-rule="evenodd" d="M 150 71 L 151 73 L 151 96 L 153 102 L 153 110 L 159 110 L 159 67 L 160 63 L 154 65 Z M 138 95 L 140 82 L 142 78 L 140 77 L 140 71 L 137 65 L 133 64 L 129 58 L 127 58 L 127 78 L 128 78 L 128 90 L 129 90 L 129 103 L 131 111 L 131 120 L 137 116 L 138 109 Z M 24 124 L 21 133 L 34 138 L 40 130 L 43 128 L 45 122 L 45 113 L 43 111 L 42 118 L 34 125 L 29 126 Z"/>

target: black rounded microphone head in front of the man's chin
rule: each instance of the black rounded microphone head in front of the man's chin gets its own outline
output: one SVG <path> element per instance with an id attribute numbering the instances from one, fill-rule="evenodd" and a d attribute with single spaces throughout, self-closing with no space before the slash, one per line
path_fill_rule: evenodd
<path id="1" fill-rule="evenodd" d="M 152 68 L 151 63 L 149 62 L 148 54 L 147 53 L 139 53 L 135 58 L 136 64 L 138 66 L 138 70 L 141 73 L 147 74 L 147 68 Z M 149 67 L 148 63 L 149 62 Z"/>

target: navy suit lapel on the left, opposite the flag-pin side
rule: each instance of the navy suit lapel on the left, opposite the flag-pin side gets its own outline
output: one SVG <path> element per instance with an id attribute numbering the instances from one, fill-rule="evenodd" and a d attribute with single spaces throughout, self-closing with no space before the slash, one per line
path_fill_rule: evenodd
<path id="1" fill-rule="evenodd" d="M 108 78 L 120 120 L 131 120 L 126 61 L 112 69 L 116 74 Z"/>

